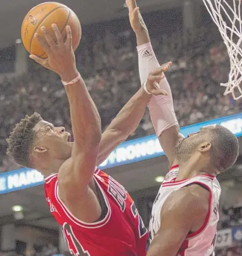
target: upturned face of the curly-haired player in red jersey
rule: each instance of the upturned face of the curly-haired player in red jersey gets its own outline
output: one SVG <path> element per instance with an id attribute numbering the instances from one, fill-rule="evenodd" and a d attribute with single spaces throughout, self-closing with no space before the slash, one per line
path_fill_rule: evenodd
<path id="1" fill-rule="evenodd" d="M 38 153 L 47 153 L 50 158 L 66 160 L 71 157 L 71 135 L 64 127 L 54 127 L 46 121 L 40 121 L 34 128 L 36 138 L 34 150 Z"/>

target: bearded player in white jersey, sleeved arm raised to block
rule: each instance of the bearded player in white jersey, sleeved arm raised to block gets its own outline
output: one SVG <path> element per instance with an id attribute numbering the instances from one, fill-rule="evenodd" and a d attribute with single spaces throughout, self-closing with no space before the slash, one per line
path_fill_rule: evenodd
<path id="1" fill-rule="evenodd" d="M 126 1 L 135 31 L 141 82 L 159 66 L 135 0 Z M 236 161 L 239 143 L 220 125 L 209 125 L 184 138 L 173 108 L 169 83 L 160 88 L 168 96 L 152 96 L 148 108 L 157 137 L 171 169 L 155 199 L 146 256 L 214 255 L 220 185 L 216 175 Z"/>

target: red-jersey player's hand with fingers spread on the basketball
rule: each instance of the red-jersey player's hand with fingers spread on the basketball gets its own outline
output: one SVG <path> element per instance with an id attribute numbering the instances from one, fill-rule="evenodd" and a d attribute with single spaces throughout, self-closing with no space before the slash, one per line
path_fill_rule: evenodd
<path id="1" fill-rule="evenodd" d="M 75 54 L 72 49 L 71 27 L 66 26 L 67 38 L 65 42 L 56 24 L 52 24 L 52 30 L 54 30 L 57 43 L 55 43 L 45 27 L 41 27 L 44 38 L 40 37 L 37 33 L 34 34 L 38 43 L 47 53 L 48 58 L 43 59 L 36 55 L 30 55 L 30 58 L 45 68 L 58 73 L 62 80 L 69 82 L 68 80 L 75 78 L 77 73 Z M 68 77 L 66 74 L 68 74 Z"/>

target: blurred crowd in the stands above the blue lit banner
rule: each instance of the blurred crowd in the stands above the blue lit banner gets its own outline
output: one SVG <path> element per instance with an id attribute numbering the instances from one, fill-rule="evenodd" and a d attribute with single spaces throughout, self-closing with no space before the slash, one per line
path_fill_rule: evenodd
<path id="1" fill-rule="evenodd" d="M 229 58 L 218 29 L 204 25 L 184 35 L 175 20 L 163 31 L 154 24 L 155 15 L 159 19 L 160 14 L 155 13 L 145 21 L 160 64 L 173 61 L 167 79 L 180 126 L 238 113 L 240 103 L 223 96 L 224 87 L 219 86 L 227 82 Z M 78 69 L 99 110 L 103 129 L 141 86 L 134 33 L 127 20 L 125 26 L 120 26 L 121 22 L 125 20 L 84 28 L 76 52 Z M 71 130 L 69 104 L 60 79 L 31 60 L 29 72 L 3 79 L 0 107 L 0 171 L 16 168 L 5 155 L 5 139 L 25 114 L 37 111 L 45 120 Z M 130 138 L 150 134 L 154 130 L 146 111 Z"/>

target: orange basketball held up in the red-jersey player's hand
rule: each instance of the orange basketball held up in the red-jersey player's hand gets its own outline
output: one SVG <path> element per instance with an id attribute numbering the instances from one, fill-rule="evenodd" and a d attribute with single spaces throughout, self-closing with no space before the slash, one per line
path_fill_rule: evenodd
<path id="1" fill-rule="evenodd" d="M 57 24 L 59 31 L 64 40 L 66 39 L 66 26 L 69 25 L 72 31 L 72 47 L 75 51 L 80 43 L 82 36 L 82 28 L 76 14 L 62 3 L 45 2 L 32 8 L 24 17 L 21 37 L 23 45 L 30 54 L 37 55 L 41 58 L 47 58 L 47 54 L 34 37 L 38 33 L 43 37 L 41 27 L 45 26 L 52 38 L 55 38 L 51 24 Z"/>

